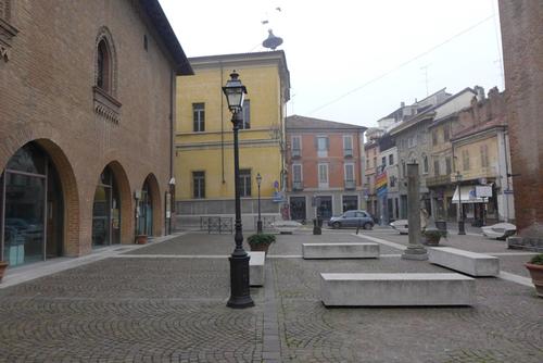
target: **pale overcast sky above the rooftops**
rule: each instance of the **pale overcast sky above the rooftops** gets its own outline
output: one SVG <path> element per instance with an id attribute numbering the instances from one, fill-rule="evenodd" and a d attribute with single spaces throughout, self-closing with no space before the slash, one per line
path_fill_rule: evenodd
<path id="1" fill-rule="evenodd" d="M 497 0 L 160 2 L 187 57 L 265 51 L 273 28 L 290 71 L 288 115 L 377 126 L 445 87 L 504 88 Z"/>

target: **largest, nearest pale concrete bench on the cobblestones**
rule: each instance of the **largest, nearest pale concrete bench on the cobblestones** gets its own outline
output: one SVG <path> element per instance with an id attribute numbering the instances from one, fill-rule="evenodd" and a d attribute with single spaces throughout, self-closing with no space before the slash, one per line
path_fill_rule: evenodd
<path id="1" fill-rule="evenodd" d="M 451 274 L 320 274 L 327 306 L 471 305 L 475 279 Z"/>

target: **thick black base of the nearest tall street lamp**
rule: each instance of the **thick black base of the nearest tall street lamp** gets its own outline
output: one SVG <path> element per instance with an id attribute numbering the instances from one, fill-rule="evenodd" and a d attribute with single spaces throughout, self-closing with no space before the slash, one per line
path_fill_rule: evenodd
<path id="1" fill-rule="evenodd" d="M 243 251 L 244 252 L 244 251 Z M 236 251 L 230 260 L 230 299 L 227 306 L 244 309 L 254 306 L 254 301 L 249 293 L 249 254 L 237 254 Z"/>

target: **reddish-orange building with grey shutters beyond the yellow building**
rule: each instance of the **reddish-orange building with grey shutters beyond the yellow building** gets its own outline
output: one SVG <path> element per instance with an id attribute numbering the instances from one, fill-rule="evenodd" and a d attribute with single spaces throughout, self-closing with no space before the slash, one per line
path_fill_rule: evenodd
<path id="1" fill-rule="evenodd" d="M 359 209 L 364 126 L 299 115 L 287 117 L 290 217 L 324 220 Z"/>

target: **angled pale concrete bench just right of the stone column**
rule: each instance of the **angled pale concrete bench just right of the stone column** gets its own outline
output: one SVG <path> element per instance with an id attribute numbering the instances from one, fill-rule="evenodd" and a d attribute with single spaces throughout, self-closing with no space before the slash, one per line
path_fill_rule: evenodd
<path id="1" fill-rule="evenodd" d="M 451 247 L 429 249 L 429 261 L 470 276 L 497 276 L 500 259 Z"/>

